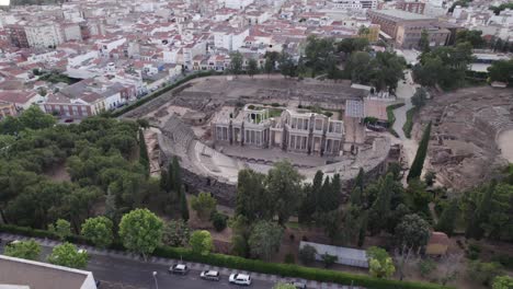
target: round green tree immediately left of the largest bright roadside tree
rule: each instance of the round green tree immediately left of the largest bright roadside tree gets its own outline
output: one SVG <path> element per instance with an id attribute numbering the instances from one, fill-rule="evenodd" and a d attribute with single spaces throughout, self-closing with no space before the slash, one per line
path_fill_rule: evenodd
<path id="1" fill-rule="evenodd" d="M 112 221 L 103 216 L 89 218 L 82 224 L 82 235 L 95 246 L 109 247 L 114 241 L 113 227 Z"/>

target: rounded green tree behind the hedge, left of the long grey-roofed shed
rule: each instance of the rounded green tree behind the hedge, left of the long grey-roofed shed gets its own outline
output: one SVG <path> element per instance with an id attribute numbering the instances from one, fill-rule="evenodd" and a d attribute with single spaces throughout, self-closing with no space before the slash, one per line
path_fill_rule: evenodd
<path id="1" fill-rule="evenodd" d="M 271 259 L 282 242 L 283 228 L 270 221 L 259 221 L 253 226 L 248 240 L 251 255 L 264 261 Z"/>

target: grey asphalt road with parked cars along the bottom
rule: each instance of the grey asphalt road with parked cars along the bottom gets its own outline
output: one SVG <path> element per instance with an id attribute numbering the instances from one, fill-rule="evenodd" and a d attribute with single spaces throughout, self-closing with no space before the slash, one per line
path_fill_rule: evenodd
<path id="1" fill-rule="evenodd" d="M 0 233 L 0 238 L 3 240 L 0 244 L 0 252 L 3 252 L 3 244 L 7 241 L 12 240 L 27 240 L 29 238 L 18 236 L 12 234 Z M 46 261 L 46 257 L 52 252 L 55 245 L 59 242 L 52 240 L 34 239 L 42 245 L 42 258 Z M 93 273 L 96 280 L 101 281 L 100 289 L 156 289 L 156 282 L 153 279 L 153 271 L 157 271 L 158 288 L 162 289 L 237 289 L 240 288 L 237 285 L 228 284 L 228 276 L 232 273 L 232 269 L 213 267 L 205 264 L 189 263 L 191 271 L 186 276 L 178 276 L 168 274 L 168 268 L 175 261 L 151 257 L 147 262 L 144 262 L 138 256 L 134 256 L 126 252 L 105 251 L 89 246 L 80 246 L 88 250 L 90 259 L 88 263 L 87 270 Z M 207 281 L 200 278 L 200 271 L 205 269 L 215 269 L 221 274 L 220 281 Z M 240 271 L 247 273 L 247 271 Z M 271 289 L 277 281 L 299 280 L 297 278 L 282 278 L 275 275 L 250 273 L 253 282 L 251 288 L 255 289 Z M 349 289 L 347 286 L 341 286 L 335 284 L 326 284 L 317 281 L 306 281 L 308 288 L 322 288 L 322 289 Z M 353 287 L 353 289 L 358 289 Z M 361 288 L 362 289 L 362 288 Z"/>

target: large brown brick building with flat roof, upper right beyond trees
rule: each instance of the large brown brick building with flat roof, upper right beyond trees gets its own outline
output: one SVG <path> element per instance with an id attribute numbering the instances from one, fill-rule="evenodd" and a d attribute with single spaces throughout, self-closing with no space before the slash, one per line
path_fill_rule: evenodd
<path id="1" fill-rule="evenodd" d="M 399 48 L 418 48 L 423 31 L 429 34 L 430 46 L 445 45 L 451 35 L 448 30 L 441 27 L 437 19 L 422 14 L 402 10 L 372 10 L 367 15 Z"/>

